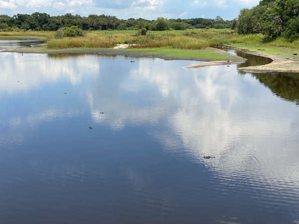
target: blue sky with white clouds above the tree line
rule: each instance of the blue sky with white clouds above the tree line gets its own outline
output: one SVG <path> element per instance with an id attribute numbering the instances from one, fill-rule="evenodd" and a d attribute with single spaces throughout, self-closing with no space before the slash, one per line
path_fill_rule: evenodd
<path id="1" fill-rule="evenodd" d="M 87 16 L 114 15 L 120 19 L 145 18 L 216 18 L 238 17 L 242 8 L 251 8 L 259 0 L 0 0 L 0 14 L 31 14 L 35 11 L 50 15 L 65 13 Z"/>

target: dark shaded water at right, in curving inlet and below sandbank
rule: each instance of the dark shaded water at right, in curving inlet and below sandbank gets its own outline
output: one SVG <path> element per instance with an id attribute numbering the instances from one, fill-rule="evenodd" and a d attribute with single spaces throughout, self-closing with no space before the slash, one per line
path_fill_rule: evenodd
<path id="1" fill-rule="evenodd" d="M 228 52 L 247 59 L 245 63 L 237 65 L 237 68 L 266 65 L 273 61 L 270 58 L 248 54 L 241 50 L 228 50 Z M 238 71 L 238 73 L 240 75 L 248 74 L 245 71 Z M 299 73 L 268 72 L 250 74 L 268 87 L 277 97 L 299 105 Z"/>

